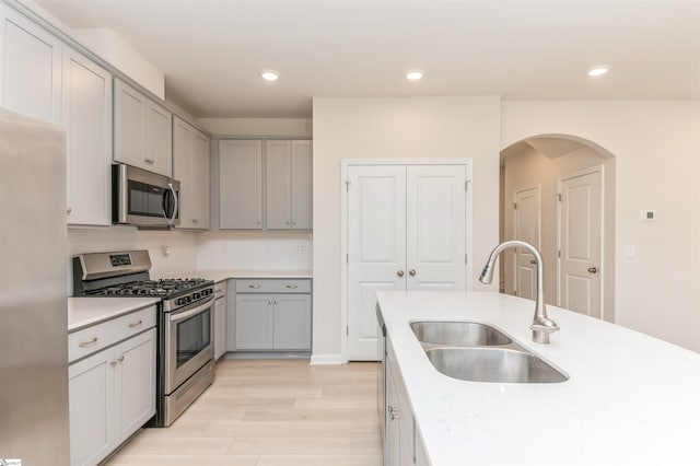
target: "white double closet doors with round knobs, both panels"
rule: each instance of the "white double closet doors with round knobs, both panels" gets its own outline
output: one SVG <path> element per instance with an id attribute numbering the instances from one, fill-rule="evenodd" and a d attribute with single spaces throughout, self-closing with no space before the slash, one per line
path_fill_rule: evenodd
<path id="1" fill-rule="evenodd" d="M 378 290 L 464 290 L 466 165 L 348 167 L 348 359 L 378 360 Z"/>

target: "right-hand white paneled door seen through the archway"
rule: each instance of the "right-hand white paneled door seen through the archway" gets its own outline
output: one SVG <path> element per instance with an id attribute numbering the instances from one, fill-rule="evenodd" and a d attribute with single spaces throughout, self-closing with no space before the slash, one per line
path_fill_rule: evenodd
<path id="1" fill-rule="evenodd" d="M 600 170 L 559 182 L 559 305 L 600 318 Z"/>

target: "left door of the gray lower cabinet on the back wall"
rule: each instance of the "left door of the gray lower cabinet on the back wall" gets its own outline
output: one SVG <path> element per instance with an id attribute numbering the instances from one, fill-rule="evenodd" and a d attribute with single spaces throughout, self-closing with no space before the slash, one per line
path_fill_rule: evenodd
<path id="1" fill-rule="evenodd" d="M 236 350 L 272 348 L 272 294 L 236 295 Z"/>

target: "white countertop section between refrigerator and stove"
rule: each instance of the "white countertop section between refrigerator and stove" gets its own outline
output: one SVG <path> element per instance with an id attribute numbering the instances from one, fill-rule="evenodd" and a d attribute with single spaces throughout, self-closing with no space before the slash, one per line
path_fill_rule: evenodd
<path id="1" fill-rule="evenodd" d="M 68 333 L 132 313 L 159 301 L 160 298 L 69 298 Z"/>

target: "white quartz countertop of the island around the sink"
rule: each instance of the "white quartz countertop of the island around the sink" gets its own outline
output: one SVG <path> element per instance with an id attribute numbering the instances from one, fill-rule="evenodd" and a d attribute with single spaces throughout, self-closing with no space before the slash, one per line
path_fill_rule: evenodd
<path id="1" fill-rule="evenodd" d="M 550 345 L 534 343 L 534 302 L 499 293 L 377 298 L 432 466 L 700 465 L 700 354 L 553 306 L 561 330 Z M 570 378 L 447 377 L 408 326 L 419 319 L 491 324 Z"/>

